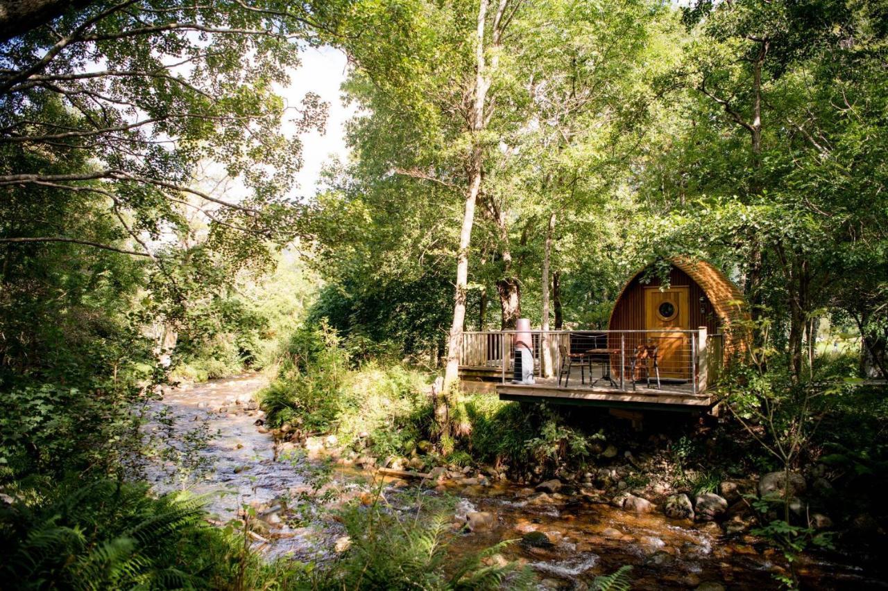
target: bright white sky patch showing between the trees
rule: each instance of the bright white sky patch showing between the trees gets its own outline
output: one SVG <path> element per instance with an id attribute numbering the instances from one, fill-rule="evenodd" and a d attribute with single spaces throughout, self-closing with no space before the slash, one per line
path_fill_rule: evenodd
<path id="1" fill-rule="evenodd" d="M 315 92 L 329 103 L 327 130 L 303 134 L 303 166 L 296 175 L 295 196 L 310 197 L 318 184 L 324 163 L 331 156 L 347 162 L 344 125 L 355 113 L 354 106 L 343 105 L 339 86 L 345 80 L 345 53 L 331 47 L 306 48 L 302 52 L 302 66 L 290 75 L 289 87 L 281 89 L 281 96 L 290 106 L 299 106 L 306 92 Z M 290 125 L 290 130 L 292 126 Z M 287 130 L 287 126 L 284 127 Z"/>

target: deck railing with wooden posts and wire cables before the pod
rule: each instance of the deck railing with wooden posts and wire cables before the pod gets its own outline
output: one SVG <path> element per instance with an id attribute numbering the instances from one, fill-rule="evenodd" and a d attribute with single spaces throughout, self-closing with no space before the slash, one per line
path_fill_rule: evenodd
<path id="1" fill-rule="evenodd" d="M 661 383 L 689 386 L 696 394 L 714 382 L 721 366 L 722 335 L 710 335 L 705 327 L 527 332 L 533 343 L 535 377 L 549 377 L 560 382 L 559 385 L 582 386 L 575 382 L 575 374 L 582 373 L 588 374 L 587 385 L 594 382 L 608 389 L 633 390 L 638 384 L 647 384 L 648 374 L 655 383 L 656 369 L 659 369 Z M 501 382 L 511 382 L 516 335 L 514 330 L 464 332 L 461 368 L 466 372 L 486 371 L 488 376 L 496 374 Z M 650 351 L 656 351 L 656 368 Z M 564 376 L 567 366 L 573 374 Z M 559 373 L 562 374 L 560 380 Z"/>

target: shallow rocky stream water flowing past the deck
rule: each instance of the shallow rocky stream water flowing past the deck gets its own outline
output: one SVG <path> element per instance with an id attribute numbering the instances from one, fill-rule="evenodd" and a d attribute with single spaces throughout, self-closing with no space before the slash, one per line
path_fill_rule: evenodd
<path id="1" fill-rule="evenodd" d="M 345 532 L 320 517 L 301 519 L 301 525 L 294 526 L 286 503 L 281 506 L 281 498 L 311 491 L 306 472 L 312 461 L 277 457 L 272 435 L 255 424 L 262 412 L 253 394 L 265 384 L 261 375 L 246 374 L 166 389 L 153 410 L 166 408 L 175 422 L 151 422 L 147 432 L 161 448 L 177 453 L 151 463 L 147 477 L 159 492 L 186 487 L 205 495 L 214 521 L 237 517 L 245 505 L 256 508 L 265 528 L 258 532 L 256 547 L 268 556 L 327 561 L 336 556 L 337 540 Z M 333 476 L 329 486 L 337 487 L 341 499 L 366 494 L 371 486 L 366 473 L 362 477 L 352 467 L 337 467 Z M 405 484 L 390 480 L 384 495 Z M 450 548 L 457 555 L 520 539 L 527 532 L 544 533 L 549 541 L 543 548 L 515 543 L 502 553 L 507 560 L 533 568 L 540 588 L 589 588 L 596 576 L 623 564 L 632 565 L 633 589 L 781 588 L 774 574 L 784 571 L 785 559 L 752 536 L 726 537 L 717 524 L 679 522 L 659 511 L 637 515 L 567 495 L 555 494 L 537 504 L 531 493 L 533 489 L 502 482 L 461 486 L 454 481 L 424 492 L 455 495 L 455 521 L 473 511 L 494 516 L 484 531 L 455 530 Z M 872 578 L 850 560 L 803 556 L 797 572 L 804 588 L 888 589 L 884 580 Z"/>

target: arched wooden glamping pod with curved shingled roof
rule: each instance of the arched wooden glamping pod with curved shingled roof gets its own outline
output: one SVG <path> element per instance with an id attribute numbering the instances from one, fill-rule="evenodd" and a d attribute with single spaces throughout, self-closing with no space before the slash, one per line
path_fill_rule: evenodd
<path id="1" fill-rule="evenodd" d="M 662 377 L 686 381 L 692 379 L 699 329 L 707 329 L 710 356 L 723 364 L 748 351 L 741 325 L 749 313 L 740 290 L 712 264 L 684 258 L 670 264 L 668 284 L 645 268 L 622 288 L 608 329 L 632 332 L 609 333 L 608 345 L 629 351 L 655 345 Z"/>

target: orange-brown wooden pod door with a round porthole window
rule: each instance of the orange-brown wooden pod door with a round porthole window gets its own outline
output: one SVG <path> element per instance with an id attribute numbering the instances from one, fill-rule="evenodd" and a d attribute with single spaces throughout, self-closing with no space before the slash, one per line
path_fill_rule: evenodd
<path id="1" fill-rule="evenodd" d="M 659 346 L 660 375 L 665 378 L 691 379 L 690 335 L 665 332 L 691 328 L 688 294 L 686 287 L 645 288 L 645 327 L 652 331 L 645 340 Z"/>

